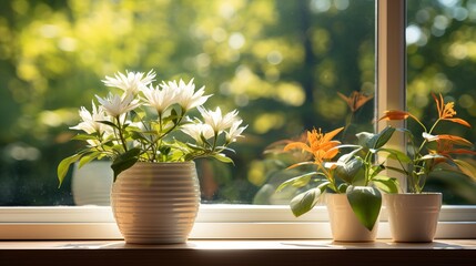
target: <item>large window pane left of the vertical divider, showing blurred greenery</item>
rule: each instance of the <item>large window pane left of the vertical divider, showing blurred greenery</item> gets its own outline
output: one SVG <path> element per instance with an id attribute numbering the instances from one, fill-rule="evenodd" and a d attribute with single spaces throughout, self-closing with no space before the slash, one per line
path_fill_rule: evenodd
<path id="1" fill-rule="evenodd" d="M 274 190 L 288 164 L 264 151 L 314 126 L 347 125 L 348 141 L 373 130 L 374 32 L 371 0 L 1 1 L 0 205 L 74 205 L 78 171 L 60 188 L 55 172 L 81 147 L 69 129 L 78 109 L 105 95 L 104 75 L 150 69 L 159 81 L 194 78 L 210 106 L 250 125 L 235 165 L 198 162 L 204 203 L 286 204 Z M 470 93 L 458 95 L 464 112 Z M 107 204 L 101 186 L 84 188 L 95 204 Z"/>

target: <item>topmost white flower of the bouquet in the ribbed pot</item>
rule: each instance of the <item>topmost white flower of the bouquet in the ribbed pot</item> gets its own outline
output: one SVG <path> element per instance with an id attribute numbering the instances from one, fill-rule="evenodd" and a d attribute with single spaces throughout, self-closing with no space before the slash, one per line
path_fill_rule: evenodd
<path id="1" fill-rule="evenodd" d="M 102 82 L 108 86 L 115 86 L 124 92 L 130 92 L 132 94 L 138 94 L 140 90 L 149 85 L 155 79 L 155 72 L 153 70 L 144 76 L 143 72 L 128 72 L 125 74 L 118 72 L 114 74 L 114 78 L 105 76 L 105 80 Z"/>

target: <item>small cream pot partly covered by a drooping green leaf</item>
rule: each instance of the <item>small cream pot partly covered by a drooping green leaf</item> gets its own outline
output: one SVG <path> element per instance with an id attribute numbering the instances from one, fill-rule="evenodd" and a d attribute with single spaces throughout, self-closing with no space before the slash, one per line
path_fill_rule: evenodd
<path id="1" fill-rule="evenodd" d="M 378 221 L 368 231 L 352 211 L 345 194 L 326 194 L 331 231 L 336 242 L 373 242 L 377 235 Z"/>

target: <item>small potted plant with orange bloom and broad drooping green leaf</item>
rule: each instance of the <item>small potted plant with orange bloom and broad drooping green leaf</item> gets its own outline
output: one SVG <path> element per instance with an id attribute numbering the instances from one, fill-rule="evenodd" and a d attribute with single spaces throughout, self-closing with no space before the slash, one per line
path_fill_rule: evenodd
<path id="1" fill-rule="evenodd" d="M 344 145 L 333 140 L 343 129 L 328 133 L 314 129 L 307 132 L 305 142 L 288 143 L 284 151 L 302 150 L 312 154 L 308 161 L 290 168 L 311 165 L 313 170 L 282 183 L 277 192 L 286 186 L 304 188 L 290 203 L 295 216 L 311 211 L 326 191 L 331 192 L 326 194 L 326 202 L 334 241 L 371 242 L 377 233 L 382 205 L 378 188 L 395 193 L 398 187 L 395 178 L 379 175 L 383 165 L 374 163 L 374 155 L 395 129 L 387 127 L 377 134 L 358 133 L 357 145 Z M 340 151 L 347 149 L 351 152 L 337 156 Z"/>

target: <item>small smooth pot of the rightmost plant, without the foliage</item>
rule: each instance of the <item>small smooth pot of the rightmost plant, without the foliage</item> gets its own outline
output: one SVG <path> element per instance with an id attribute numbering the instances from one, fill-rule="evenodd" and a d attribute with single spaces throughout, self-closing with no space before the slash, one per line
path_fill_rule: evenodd
<path id="1" fill-rule="evenodd" d="M 440 193 L 384 194 L 394 242 L 433 242 L 442 208 Z"/>

